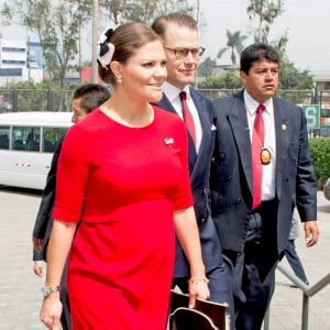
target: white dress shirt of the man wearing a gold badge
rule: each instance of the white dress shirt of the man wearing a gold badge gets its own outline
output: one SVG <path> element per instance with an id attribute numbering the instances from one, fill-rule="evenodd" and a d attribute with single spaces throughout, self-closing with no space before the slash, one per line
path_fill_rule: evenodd
<path id="1" fill-rule="evenodd" d="M 250 139 L 252 141 L 254 119 L 260 103 L 255 101 L 246 90 L 244 90 L 244 105 L 246 108 Z M 263 105 L 265 106 L 265 110 L 263 111 L 263 120 L 265 124 L 264 147 L 271 152 L 271 164 L 263 165 L 262 200 L 271 200 L 275 198 L 276 169 L 276 132 L 273 98 L 267 99 Z"/>

